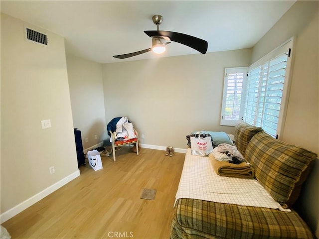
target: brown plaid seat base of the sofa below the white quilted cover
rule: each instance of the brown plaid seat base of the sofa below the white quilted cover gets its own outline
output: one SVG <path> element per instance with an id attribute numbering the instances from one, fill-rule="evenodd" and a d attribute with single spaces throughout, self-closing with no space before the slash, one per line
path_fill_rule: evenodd
<path id="1" fill-rule="evenodd" d="M 310 239 L 300 216 L 277 209 L 180 198 L 176 201 L 171 239 Z"/>

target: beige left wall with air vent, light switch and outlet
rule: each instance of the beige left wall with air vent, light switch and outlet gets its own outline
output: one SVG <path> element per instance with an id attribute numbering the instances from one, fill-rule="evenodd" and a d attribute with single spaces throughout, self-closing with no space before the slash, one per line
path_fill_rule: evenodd
<path id="1" fill-rule="evenodd" d="M 25 41 L 24 26 L 1 13 L 1 214 L 78 171 L 64 39 L 31 26 L 50 45 Z"/>

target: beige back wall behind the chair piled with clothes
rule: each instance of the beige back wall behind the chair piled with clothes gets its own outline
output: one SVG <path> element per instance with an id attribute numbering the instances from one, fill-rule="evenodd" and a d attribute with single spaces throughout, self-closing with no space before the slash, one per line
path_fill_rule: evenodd
<path id="1" fill-rule="evenodd" d="M 152 53 L 149 53 L 152 54 Z M 141 143 L 186 148 L 195 130 L 220 126 L 225 67 L 248 66 L 250 49 L 103 65 L 106 121 L 127 116 Z"/>

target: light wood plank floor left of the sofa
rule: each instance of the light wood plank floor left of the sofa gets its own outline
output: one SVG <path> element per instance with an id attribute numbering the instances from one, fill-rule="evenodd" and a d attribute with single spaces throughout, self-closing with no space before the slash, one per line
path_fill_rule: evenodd
<path id="1" fill-rule="evenodd" d="M 79 177 L 2 226 L 12 239 L 168 239 L 185 154 L 122 148 L 116 162 L 82 165 Z M 140 199 L 143 188 L 157 189 L 156 199 Z"/>

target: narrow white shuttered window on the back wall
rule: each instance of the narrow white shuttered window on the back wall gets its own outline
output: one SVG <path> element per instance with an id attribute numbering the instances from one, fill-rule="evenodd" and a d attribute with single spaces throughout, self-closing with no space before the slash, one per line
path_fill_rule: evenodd
<path id="1" fill-rule="evenodd" d="M 238 120 L 242 119 L 243 84 L 246 78 L 247 67 L 225 69 L 221 125 L 235 125 Z"/>

